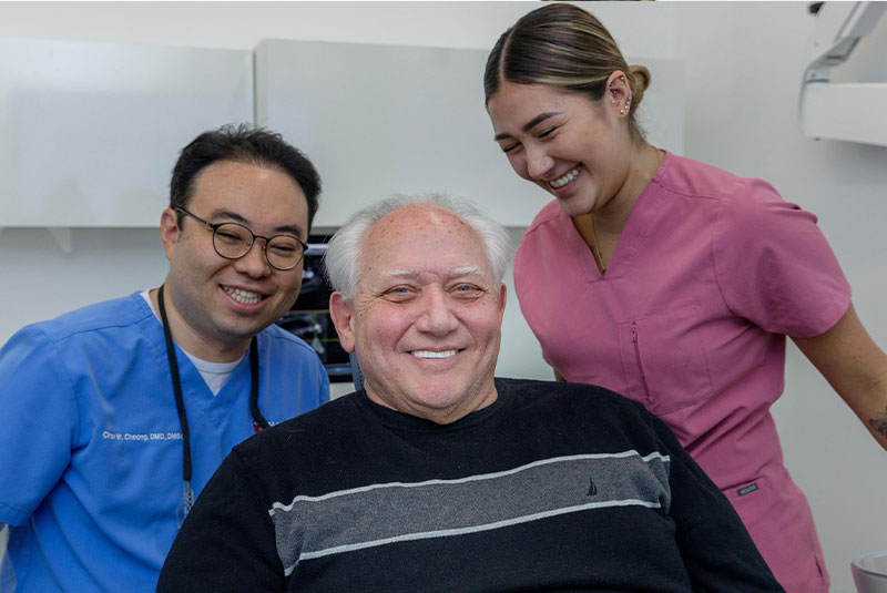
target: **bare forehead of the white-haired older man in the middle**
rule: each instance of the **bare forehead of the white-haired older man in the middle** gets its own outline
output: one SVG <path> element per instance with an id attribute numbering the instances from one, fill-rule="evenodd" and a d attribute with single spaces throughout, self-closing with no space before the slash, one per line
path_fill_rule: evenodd
<path id="1" fill-rule="evenodd" d="M 465 221 L 427 204 L 398 208 L 379 219 L 364 237 L 361 277 L 462 274 L 475 268 L 490 275 L 483 243 Z"/>

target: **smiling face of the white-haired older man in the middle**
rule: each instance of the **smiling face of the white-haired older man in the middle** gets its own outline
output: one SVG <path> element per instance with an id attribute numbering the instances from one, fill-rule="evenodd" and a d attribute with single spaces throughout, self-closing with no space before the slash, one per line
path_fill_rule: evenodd
<path id="1" fill-rule="evenodd" d="M 473 229 L 410 205 L 377 222 L 361 247 L 355 296 L 334 293 L 330 313 L 368 397 L 438 423 L 492 403 L 506 290 Z"/>

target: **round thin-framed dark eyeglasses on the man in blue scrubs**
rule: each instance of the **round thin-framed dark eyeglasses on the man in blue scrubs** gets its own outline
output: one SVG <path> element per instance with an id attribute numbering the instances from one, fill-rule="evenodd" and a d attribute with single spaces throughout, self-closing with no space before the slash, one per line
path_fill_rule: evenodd
<path id="1" fill-rule="evenodd" d="M 265 259 L 274 269 L 293 269 L 302 262 L 305 255 L 305 249 L 308 248 L 306 243 L 300 242 L 293 235 L 274 235 L 273 237 L 263 237 L 256 235 L 246 226 L 239 223 L 211 223 L 204 221 L 185 208 L 175 208 L 182 214 L 186 214 L 203 223 L 206 228 L 213 232 L 213 247 L 215 253 L 225 259 L 239 259 L 249 253 L 253 244 L 257 238 L 265 239 Z"/>

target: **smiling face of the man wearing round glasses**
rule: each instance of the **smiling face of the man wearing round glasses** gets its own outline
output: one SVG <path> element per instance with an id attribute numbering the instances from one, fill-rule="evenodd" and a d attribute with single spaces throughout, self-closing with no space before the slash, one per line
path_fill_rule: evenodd
<path id="1" fill-rule="evenodd" d="M 216 162 L 196 177 L 187 209 L 211 223 L 236 222 L 254 234 L 293 235 L 307 241 L 308 206 L 298 184 L 277 168 Z M 213 233 L 167 208 L 161 237 L 170 260 L 166 309 L 176 342 L 206 360 L 236 360 L 249 340 L 292 306 L 302 267 L 278 270 L 265 258 L 263 239 L 245 256 L 225 259 Z"/>

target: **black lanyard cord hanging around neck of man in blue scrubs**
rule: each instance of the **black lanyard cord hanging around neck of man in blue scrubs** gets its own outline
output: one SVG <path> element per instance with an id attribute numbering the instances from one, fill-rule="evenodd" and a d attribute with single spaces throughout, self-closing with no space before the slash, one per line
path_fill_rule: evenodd
<path id="1" fill-rule="evenodd" d="M 182 397 L 182 381 L 179 378 L 179 361 L 175 357 L 175 346 L 173 336 L 170 331 L 170 323 L 166 319 L 166 307 L 163 305 L 163 287 L 157 290 L 157 306 L 160 308 L 160 319 L 163 325 L 163 337 L 166 339 L 166 358 L 170 361 L 170 378 L 173 381 L 173 393 L 175 393 L 175 409 L 179 412 L 179 426 L 182 429 L 182 479 L 185 482 L 182 492 L 182 502 L 175 511 L 179 526 L 191 511 L 194 504 L 194 491 L 191 489 L 191 437 L 187 429 L 187 416 L 185 415 L 185 400 Z M 268 421 L 258 410 L 258 341 L 255 336 L 249 344 L 249 411 L 253 415 L 253 429 L 258 432 L 263 428 L 268 428 Z"/>

